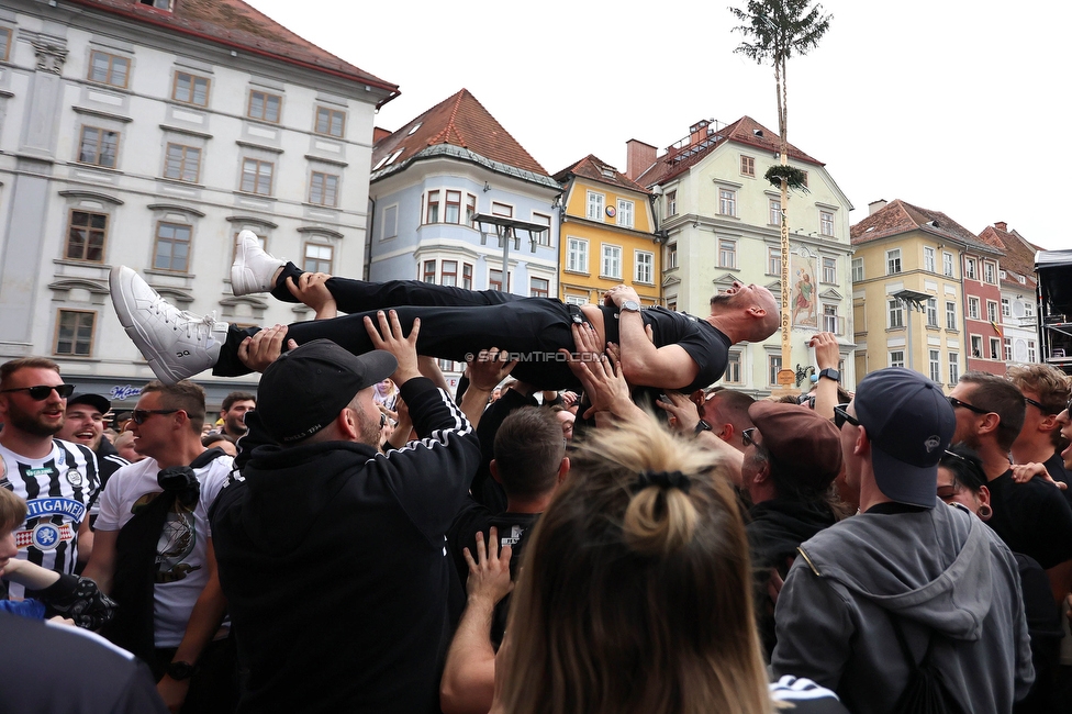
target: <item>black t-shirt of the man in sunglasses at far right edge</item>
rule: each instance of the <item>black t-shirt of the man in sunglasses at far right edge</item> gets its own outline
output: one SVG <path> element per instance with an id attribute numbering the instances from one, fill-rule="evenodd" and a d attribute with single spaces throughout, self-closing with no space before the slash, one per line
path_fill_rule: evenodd
<path id="1" fill-rule="evenodd" d="M 1072 507 L 1041 479 L 1013 481 L 1009 469 L 986 487 L 994 515 L 986 524 L 1013 553 L 1023 553 L 1048 570 L 1072 560 Z"/>

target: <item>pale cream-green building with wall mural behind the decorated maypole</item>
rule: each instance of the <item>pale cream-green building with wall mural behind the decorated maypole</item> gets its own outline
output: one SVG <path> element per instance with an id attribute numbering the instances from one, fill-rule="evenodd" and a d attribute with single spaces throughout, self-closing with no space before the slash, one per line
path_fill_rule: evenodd
<path id="1" fill-rule="evenodd" d="M 662 290 L 668 308 L 710 314 L 711 295 L 734 281 L 769 288 L 781 299 L 781 194 L 764 178 L 779 163 L 778 133 L 742 116 L 732 124 L 696 122 L 689 135 L 660 153 L 627 144 L 626 176 L 656 196 L 663 245 Z M 789 163 L 805 171 L 807 192 L 791 192 L 792 359 L 796 387 L 815 371 L 811 335 L 829 331 L 841 346 L 841 381 L 856 383 L 851 328 L 849 211 L 852 205 L 826 167 L 795 146 Z M 777 387 L 781 337 L 736 345 L 722 380 L 755 395 Z"/>

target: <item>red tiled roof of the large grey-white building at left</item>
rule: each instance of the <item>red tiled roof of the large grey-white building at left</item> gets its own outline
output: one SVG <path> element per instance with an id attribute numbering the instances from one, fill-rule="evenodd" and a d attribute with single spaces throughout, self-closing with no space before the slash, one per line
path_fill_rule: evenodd
<path id="1" fill-rule="evenodd" d="M 270 56 L 393 92 L 398 85 L 343 62 L 308 40 L 299 37 L 242 0 L 174 0 L 171 11 L 157 10 L 137 0 L 65 0 L 124 15 L 175 32 L 219 42 L 239 52 Z"/>

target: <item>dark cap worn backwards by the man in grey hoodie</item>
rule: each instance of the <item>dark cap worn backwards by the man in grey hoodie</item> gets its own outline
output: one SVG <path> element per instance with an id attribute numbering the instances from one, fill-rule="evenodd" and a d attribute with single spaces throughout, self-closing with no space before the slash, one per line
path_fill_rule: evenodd
<path id="1" fill-rule="evenodd" d="M 935 507 L 938 461 L 957 428 L 941 388 L 917 371 L 889 367 L 863 378 L 852 404 L 871 442 L 879 490 L 898 503 Z"/>

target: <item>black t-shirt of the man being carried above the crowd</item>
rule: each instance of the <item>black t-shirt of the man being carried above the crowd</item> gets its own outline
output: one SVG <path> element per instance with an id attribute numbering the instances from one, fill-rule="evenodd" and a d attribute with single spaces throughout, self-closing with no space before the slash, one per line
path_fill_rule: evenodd
<path id="1" fill-rule="evenodd" d="M 645 308 L 640 311 L 640 317 L 645 325 L 651 325 L 651 338 L 656 347 L 680 345 L 700 368 L 692 383 L 681 391 L 693 392 L 722 378 L 729 361 L 732 343 L 729 337 L 710 322 L 662 306 Z M 607 342 L 619 342 L 617 310 L 613 305 L 604 306 L 603 328 Z"/>

